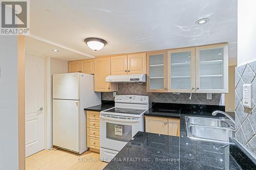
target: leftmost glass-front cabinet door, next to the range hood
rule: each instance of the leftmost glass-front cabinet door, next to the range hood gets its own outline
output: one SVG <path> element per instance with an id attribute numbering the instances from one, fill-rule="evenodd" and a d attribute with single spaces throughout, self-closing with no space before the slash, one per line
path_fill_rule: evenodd
<path id="1" fill-rule="evenodd" d="M 167 92 L 167 51 L 146 54 L 147 92 Z"/>

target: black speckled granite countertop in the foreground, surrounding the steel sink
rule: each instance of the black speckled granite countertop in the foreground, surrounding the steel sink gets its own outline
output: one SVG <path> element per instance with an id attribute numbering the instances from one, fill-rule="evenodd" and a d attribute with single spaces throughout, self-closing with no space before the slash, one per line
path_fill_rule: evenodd
<path id="1" fill-rule="evenodd" d="M 152 109 L 145 115 L 178 117 L 177 113 Z M 234 158 L 241 150 L 234 143 L 188 138 L 186 115 L 211 116 L 211 112 L 181 109 L 180 137 L 138 132 L 104 169 L 255 169 L 253 163 L 238 164 Z M 243 159 L 249 161 L 245 156 Z"/>

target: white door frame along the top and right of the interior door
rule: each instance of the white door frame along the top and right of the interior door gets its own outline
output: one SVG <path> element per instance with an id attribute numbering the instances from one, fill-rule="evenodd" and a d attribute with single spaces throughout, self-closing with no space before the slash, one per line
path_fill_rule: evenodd
<path id="1" fill-rule="evenodd" d="M 52 148 L 52 90 L 51 90 L 51 58 L 46 56 L 25 53 L 45 58 L 45 150 Z"/>

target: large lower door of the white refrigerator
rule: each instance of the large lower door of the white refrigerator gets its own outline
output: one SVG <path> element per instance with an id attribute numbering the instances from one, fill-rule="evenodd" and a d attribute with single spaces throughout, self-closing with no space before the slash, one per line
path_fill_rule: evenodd
<path id="1" fill-rule="evenodd" d="M 79 152 L 79 101 L 53 100 L 53 145 Z"/>

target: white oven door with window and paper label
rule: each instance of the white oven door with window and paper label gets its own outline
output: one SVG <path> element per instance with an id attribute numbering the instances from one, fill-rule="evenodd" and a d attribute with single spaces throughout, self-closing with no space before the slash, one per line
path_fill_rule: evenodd
<path id="1" fill-rule="evenodd" d="M 120 151 L 138 132 L 141 118 L 100 114 L 100 148 Z"/>

